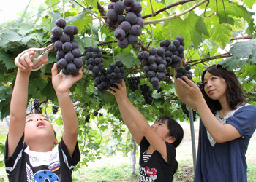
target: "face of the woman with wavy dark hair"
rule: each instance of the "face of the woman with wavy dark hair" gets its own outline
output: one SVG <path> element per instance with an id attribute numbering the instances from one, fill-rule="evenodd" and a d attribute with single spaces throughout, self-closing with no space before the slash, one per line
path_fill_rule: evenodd
<path id="1" fill-rule="evenodd" d="M 209 98 L 213 100 L 219 100 L 220 103 L 222 103 L 222 100 L 226 101 L 227 84 L 225 79 L 219 76 L 214 76 L 206 71 L 203 85 L 204 90 Z"/>

